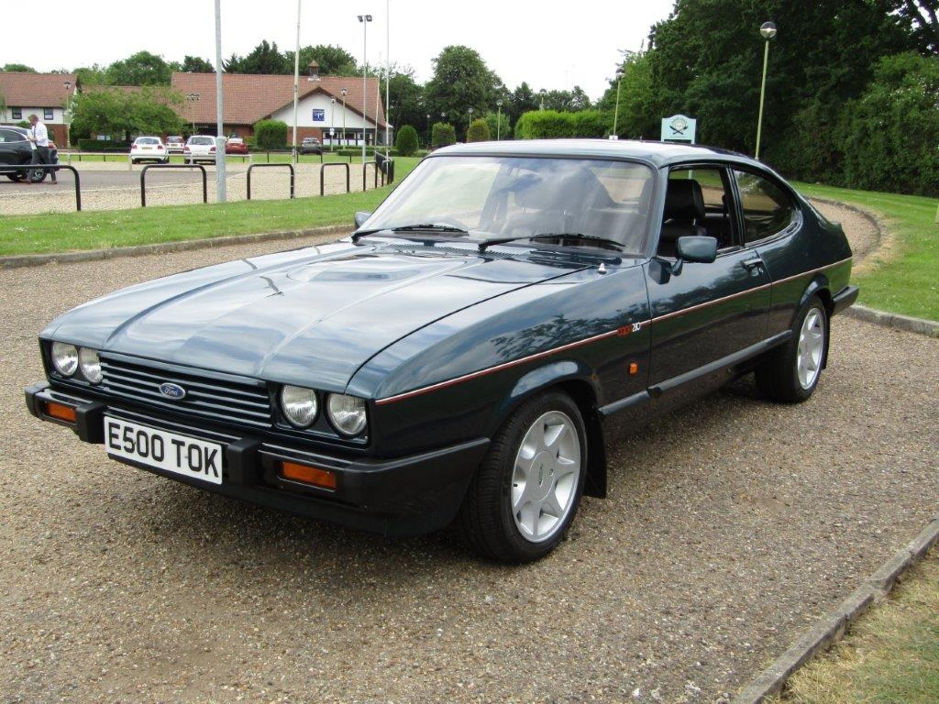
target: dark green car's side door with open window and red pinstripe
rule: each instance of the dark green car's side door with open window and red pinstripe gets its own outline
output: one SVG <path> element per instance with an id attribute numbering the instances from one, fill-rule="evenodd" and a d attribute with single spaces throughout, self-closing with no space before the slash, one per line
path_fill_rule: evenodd
<path id="1" fill-rule="evenodd" d="M 674 183 L 681 180 L 700 186 L 698 207 L 670 203 L 669 191 L 677 191 Z M 658 250 L 645 265 L 652 319 L 649 386 L 654 391 L 703 378 L 762 342 L 770 304 L 766 268 L 743 246 L 730 169 L 714 163 L 672 167 L 669 184 Z M 676 267 L 676 234 L 716 237 L 716 260 Z"/>

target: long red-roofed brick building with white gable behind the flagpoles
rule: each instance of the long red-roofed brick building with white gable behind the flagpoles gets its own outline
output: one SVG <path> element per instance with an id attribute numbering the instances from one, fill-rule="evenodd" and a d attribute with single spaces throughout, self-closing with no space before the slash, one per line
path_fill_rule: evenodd
<path id="1" fill-rule="evenodd" d="M 250 137 L 254 123 L 261 119 L 283 120 L 292 128 L 293 84 L 292 75 L 223 74 L 224 134 Z M 180 116 L 192 126 L 193 133 L 215 134 L 215 74 L 176 72 L 172 86 L 185 98 Z M 298 143 L 303 137 L 316 137 L 328 145 L 332 134 L 337 145 L 344 144 L 345 130 L 346 144 L 361 145 L 363 113 L 367 144 L 375 144 L 376 138 L 378 144 L 384 144 L 385 111 L 378 98 L 376 76 L 366 80 L 364 95 L 362 76 L 319 76 L 316 63 L 310 65 L 308 75 L 300 76 Z M 393 134 L 391 138 L 393 141 Z M 292 130 L 288 130 L 287 140 L 292 140 Z"/>

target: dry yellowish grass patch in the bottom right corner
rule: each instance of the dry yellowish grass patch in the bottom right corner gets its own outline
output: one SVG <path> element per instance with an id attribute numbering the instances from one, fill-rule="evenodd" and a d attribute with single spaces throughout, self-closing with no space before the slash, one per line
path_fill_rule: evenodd
<path id="1" fill-rule="evenodd" d="M 793 675 L 786 704 L 939 702 L 939 553 L 852 625 L 834 649 Z"/>

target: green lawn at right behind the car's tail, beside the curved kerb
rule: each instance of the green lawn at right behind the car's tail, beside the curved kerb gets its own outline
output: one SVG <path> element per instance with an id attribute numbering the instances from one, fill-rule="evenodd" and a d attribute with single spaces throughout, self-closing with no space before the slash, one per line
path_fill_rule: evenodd
<path id="1" fill-rule="evenodd" d="M 830 198 L 875 212 L 893 236 L 883 254 L 854 276 L 858 302 L 882 311 L 939 320 L 939 224 L 934 198 L 793 184 L 809 197 Z"/>

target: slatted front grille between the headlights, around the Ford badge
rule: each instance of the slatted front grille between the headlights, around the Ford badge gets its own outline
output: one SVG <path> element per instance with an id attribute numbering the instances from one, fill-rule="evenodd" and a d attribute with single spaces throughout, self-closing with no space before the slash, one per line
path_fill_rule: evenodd
<path id="1" fill-rule="evenodd" d="M 269 427 L 270 400 L 263 381 L 212 374 L 188 367 L 155 366 L 146 360 L 130 360 L 101 354 L 100 392 L 129 399 L 143 406 L 165 408 L 185 416 L 213 421 Z M 185 398 L 172 400 L 160 392 L 166 382 L 186 390 Z"/>

